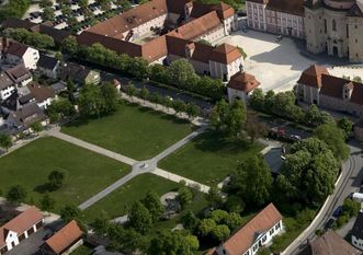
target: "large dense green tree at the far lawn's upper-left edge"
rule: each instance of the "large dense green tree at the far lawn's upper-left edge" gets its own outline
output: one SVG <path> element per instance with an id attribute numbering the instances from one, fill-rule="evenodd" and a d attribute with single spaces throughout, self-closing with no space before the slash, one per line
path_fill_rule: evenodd
<path id="1" fill-rule="evenodd" d="M 95 84 L 83 85 L 79 93 L 78 106 L 81 116 L 100 117 L 105 107 L 100 86 Z"/>

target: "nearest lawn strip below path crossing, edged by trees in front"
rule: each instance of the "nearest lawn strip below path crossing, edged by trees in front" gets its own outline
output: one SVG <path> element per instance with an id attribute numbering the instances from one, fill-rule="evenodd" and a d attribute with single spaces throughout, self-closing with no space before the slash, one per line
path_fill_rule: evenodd
<path id="1" fill-rule="evenodd" d="M 84 211 L 88 221 L 99 217 L 102 211 L 114 219 L 127 213 L 133 202 L 145 197 L 148 190 L 154 190 L 158 195 L 163 195 L 180 187 L 178 183 L 165 179 L 154 174 L 143 174 L 136 176 L 101 201 L 94 204 Z"/>

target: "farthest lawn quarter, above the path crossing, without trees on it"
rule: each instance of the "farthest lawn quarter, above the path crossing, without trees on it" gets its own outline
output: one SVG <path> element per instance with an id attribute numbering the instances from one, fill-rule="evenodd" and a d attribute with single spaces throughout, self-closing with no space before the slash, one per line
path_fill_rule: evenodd
<path id="1" fill-rule="evenodd" d="M 192 128 L 174 116 L 124 103 L 111 116 L 73 123 L 61 131 L 133 159 L 146 160 L 188 136 Z"/>

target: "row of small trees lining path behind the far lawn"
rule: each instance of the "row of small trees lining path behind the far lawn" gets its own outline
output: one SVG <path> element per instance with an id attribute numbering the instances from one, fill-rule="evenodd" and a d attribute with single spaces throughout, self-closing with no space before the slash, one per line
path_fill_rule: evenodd
<path id="1" fill-rule="evenodd" d="M 125 92 L 128 96 L 133 97 L 138 96 L 145 101 L 150 101 L 155 103 L 157 107 L 158 104 L 161 104 L 168 108 L 173 108 L 175 114 L 186 113 L 190 118 L 195 118 L 200 114 L 200 107 L 193 103 L 186 104 L 181 100 L 172 100 L 170 96 L 162 96 L 158 92 L 150 93 L 147 88 L 137 90 L 133 83 L 129 83 L 125 89 Z"/>

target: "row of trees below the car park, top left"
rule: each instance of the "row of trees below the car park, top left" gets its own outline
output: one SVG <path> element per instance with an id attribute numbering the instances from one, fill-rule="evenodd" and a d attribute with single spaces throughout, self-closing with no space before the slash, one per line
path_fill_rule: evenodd
<path id="1" fill-rule="evenodd" d="M 25 28 L 7 28 L 5 36 L 13 38 L 22 44 L 34 46 L 38 49 L 49 49 L 55 47 L 54 39 L 45 34 L 38 32 L 30 32 Z"/>

